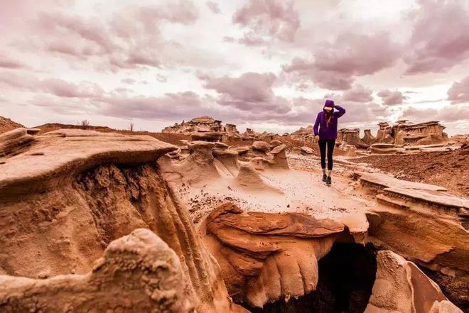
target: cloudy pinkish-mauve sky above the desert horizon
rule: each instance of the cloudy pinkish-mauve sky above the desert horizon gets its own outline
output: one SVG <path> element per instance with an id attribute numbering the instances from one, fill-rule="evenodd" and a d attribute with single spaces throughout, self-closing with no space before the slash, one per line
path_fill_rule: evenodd
<path id="1" fill-rule="evenodd" d="M 469 1 L 0 0 L 0 115 L 159 131 L 440 120 L 469 133 Z"/>

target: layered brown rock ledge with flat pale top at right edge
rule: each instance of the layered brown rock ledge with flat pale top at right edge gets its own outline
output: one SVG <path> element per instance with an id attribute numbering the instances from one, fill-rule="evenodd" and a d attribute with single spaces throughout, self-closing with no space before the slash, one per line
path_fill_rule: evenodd
<path id="1" fill-rule="evenodd" d="M 356 175 L 362 187 L 376 194 L 378 202 L 367 212 L 370 241 L 424 266 L 456 305 L 467 306 L 468 200 L 439 186 L 379 173 Z"/>

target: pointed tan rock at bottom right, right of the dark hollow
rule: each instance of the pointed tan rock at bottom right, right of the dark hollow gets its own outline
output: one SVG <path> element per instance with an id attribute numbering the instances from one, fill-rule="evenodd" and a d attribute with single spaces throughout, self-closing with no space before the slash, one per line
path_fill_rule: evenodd
<path id="1" fill-rule="evenodd" d="M 365 313 L 463 313 L 414 263 L 392 251 L 377 253 L 376 280 Z"/>

